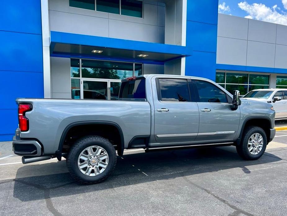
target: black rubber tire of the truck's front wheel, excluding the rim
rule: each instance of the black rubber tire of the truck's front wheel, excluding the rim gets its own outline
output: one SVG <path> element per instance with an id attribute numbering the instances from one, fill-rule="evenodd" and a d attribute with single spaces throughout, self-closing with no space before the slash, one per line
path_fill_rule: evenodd
<path id="1" fill-rule="evenodd" d="M 249 138 L 251 137 L 251 135 L 255 133 L 258 133 L 262 136 L 263 146 L 262 146 L 261 151 L 258 154 L 253 155 L 248 150 L 248 142 L 249 142 Z M 267 137 L 266 137 L 265 131 L 258 126 L 248 126 L 247 128 L 244 129 L 241 143 L 240 145 L 236 146 L 236 151 L 245 160 L 257 160 L 264 154 L 266 150 L 266 146 L 267 146 Z"/>

